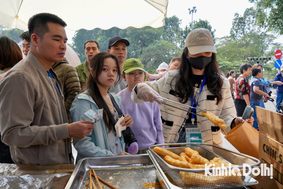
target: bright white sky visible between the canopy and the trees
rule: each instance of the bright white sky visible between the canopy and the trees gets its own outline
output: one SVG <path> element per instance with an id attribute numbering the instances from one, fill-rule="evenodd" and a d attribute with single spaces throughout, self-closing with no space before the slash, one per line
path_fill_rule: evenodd
<path id="1" fill-rule="evenodd" d="M 195 6 L 197 12 L 189 14 L 188 8 Z M 238 12 L 240 16 L 247 8 L 254 6 L 248 0 L 169 0 L 167 7 L 167 17 L 176 15 L 181 22 L 181 27 L 186 25 L 191 27 L 192 19 L 207 20 L 215 30 L 215 37 L 221 38 L 230 35 L 234 14 Z M 72 43 L 74 31 L 66 29 L 68 43 Z M 283 43 L 283 36 L 280 36 L 276 42 Z"/>

